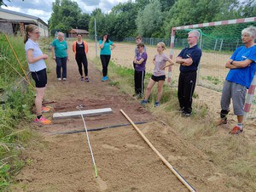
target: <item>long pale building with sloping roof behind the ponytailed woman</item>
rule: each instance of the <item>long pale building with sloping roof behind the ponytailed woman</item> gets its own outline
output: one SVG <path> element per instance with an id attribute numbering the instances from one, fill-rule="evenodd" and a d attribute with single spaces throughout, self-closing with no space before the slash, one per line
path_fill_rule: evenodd
<path id="1" fill-rule="evenodd" d="M 38 25 L 42 37 L 49 37 L 49 26 L 38 17 L 0 8 L 0 32 L 23 34 L 26 25 Z"/>

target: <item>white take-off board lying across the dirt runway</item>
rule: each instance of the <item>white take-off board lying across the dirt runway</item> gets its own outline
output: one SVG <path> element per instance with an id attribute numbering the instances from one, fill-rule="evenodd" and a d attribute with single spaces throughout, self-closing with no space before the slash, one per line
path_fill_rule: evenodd
<path id="1" fill-rule="evenodd" d="M 97 109 L 97 110 L 76 110 L 69 112 L 54 113 L 53 119 L 73 118 L 83 116 L 101 116 L 104 114 L 112 113 L 111 108 Z"/>

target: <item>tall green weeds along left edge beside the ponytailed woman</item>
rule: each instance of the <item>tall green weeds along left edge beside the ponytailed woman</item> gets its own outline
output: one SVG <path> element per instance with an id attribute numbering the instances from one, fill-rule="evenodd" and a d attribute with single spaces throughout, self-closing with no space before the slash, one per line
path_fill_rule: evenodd
<path id="1" fill-rule="evenodd" d="M 27 71 L 23 37 L 9 37 L 9 41 Z M 0 106 L 0 191 L 7 191 L 12 178 L 26 164 L 19 155 L 34 137 L 29 125 L 34 90 L 22 84 L 25 75 L 3 34 L 0 44 L 0 99 L 5 102 Z"/>

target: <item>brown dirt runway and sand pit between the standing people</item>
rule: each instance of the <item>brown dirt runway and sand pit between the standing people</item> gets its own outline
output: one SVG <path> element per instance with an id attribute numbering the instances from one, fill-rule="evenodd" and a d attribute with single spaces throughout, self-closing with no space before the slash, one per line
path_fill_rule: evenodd
<path id="1" fill-rule="evenodd" d="M 86 117 L 90 128 L 147 121 L 138 125 L 154 147 L 199 191 L 236 191 L 228 188 L 229 178 L 212 160 L 183 140 L 118 88 L 101 82 L 101 73 L 89 64 L 90 82 L 79 81 L 78 67 L 71 56 L 67 82 L 57 82 L 55 62 L 49 61 L 49 86 L 46 102 L 59 111 L 110 107 L 113 114 Z M 46 114 L 51 117 L 52 113 Z M 54 120 L 52 125 L 34 125 L 44 146 L 32 147 L 23 154 L 31 164 L 16 177 L 15 191 L 188 191 L 150 150 L 131 127 L 108 128 L 90 132 L 99 177 L 95 178 L 85 133 L 55 134 L 84 128 L 81 118 Z"/>

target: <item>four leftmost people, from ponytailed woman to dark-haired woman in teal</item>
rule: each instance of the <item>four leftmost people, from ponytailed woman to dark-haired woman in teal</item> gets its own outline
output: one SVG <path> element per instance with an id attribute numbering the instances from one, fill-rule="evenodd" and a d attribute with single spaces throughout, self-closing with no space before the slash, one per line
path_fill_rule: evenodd
<path id="1" fill-rule="evenodd" d="M 44 99 L 45 88 L 47 85 L 47 72 L 44 59 L 48 59 L 47 54 L 43 54 L 42 50 L 38 46 L 38 39 L 40 37 L 40 31 L 38 25 L 27 25 L 26 34 L 24 37 L 26 60 L 31 71 L 32 79 L 36 84 L 36 122 L 42 124 L 50 124 L 51 121 L 42 116 L 42 113 L 48 112 L 50 109 L 42 106 Z M 100 41 L 101 59 L 102 59 L 102 81 L 108 80 L 108 63 L 110 60 L 110 47 L 113 49 L 115 45 L 108 40 L 108 35 L 104 35 Z M 109 49 L 109 50 L 108 50 Z M 52 57 L 56 62 L 56 76 L 57 81 L 67 81 L 67 61 L 68 46 L 64 40 L 64 34 L 58 32 L 57 38 L 51 43 Z M 88 53 L 88 45 L 82 40 L 82 35 L 77 34 L 77 41 L 73 42 L 73 52 L 75 53 L 75 59 L 79 66 L 80 80 L 89 82 L 88 77 L 88 61 L 86 54 Z M 82 65 L 84 65 L 84 76 Z M 84 78 L 85 77 L 85 78 Z"/>

